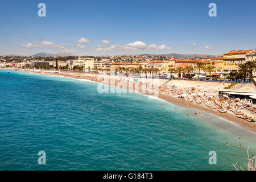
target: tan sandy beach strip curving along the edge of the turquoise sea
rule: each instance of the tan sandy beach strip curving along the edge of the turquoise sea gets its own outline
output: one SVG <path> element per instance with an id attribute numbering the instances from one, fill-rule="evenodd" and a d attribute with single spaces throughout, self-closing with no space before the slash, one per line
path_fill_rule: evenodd
<path id="1" fill-rule="evenodd" d="M 26 71 L 26 72 L 31 72 L 31 71 Z M 97 77 L 99 77 L 99 76 L 101 77 L 102 75 L 97 75 L 97 74 L 93 74 L 93 73 L 82 73 L 82 76 L 81 76 L 81 74 L 79 76 L 77 76 L 75 74 L 70 75 L 65 72 L 61 72 L 61 73 L 60 72 L 55 72 L 55 73 L 53 73 L 53 72 L 33 72 L 33 73 L 40 73 L 40 74 L 44 74 L 44 75 L 64 76 L 64 77 L 71 77 L 71 78 L 76 78 L 76 79 L 86 79 L 86 80 L 90 80 L 90 81 L 94 81 L 94 82 L 102 82 L 102 80 L 97 79 Z M 109 78 L 109 76 L 106 76 L 106 77 Z M 109 80 L 110 80 L 110 78 L 109 78 Z M 109 84 L 109 81 L 105 82 L 105 84 Z M 115 84 L 112 83 L 112 85 L 118 86 L 116 83 Z M 185 106 L 185 107 L 199 110 L 199 112 L 201 110 L 201 111 L 205 111 L 207 113 L 214 114 L 218 117 L 238 123 L 240 126 L 256 132 L 256 122 L 247 122 L 247 121 L 245 121 L 245 119 L 238 118 L 238 117 L 236 117 L 236 115 L 234 115 L 232 113 L 220 113 L 217 109 L 209 109 L 209 107 L 207 107 L 203 103 L 197 104 L 195 102 L 188 102 L 187 100 L 181 100 L 180 98 L 170 96 L 170 95 L 164 94 L 164 93 L 158 92 L 158 94 L 152 94 L 152 92 L 148 93 L 148 92 L 145 92 L 145 90 L 143 90 L 143 92 L 142 92 L 142 86 L 139 87 L 139 90 L 135 89 L 135 86 L 133 86 L 133 89 L 139 91 L 142 94 L 146 94 L 148 96 L 152 96 L 152 95 L 157 96 L 158 98 L 165 100 L 167 102 L 170 102 L 171 104 L 174 104 L 174 105 Z"/>

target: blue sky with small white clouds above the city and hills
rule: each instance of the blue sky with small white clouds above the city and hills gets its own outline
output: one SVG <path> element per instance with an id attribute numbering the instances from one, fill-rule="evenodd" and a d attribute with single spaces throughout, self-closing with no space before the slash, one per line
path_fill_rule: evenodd
<path id="1" fill-rule="evenodd" d="M 41 2 L 46 17 L 38 16 Z M 208 15 L 212 2 L 217 17 Z M 255 7 L 255 0 L 2 0 L 0 55 L 222 55 L 256 48 Z"/>

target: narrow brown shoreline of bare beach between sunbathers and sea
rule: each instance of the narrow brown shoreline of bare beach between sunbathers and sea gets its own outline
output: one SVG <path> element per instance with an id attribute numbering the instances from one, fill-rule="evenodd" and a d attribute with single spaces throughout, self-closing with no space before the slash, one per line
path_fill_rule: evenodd
<path id="1" fill-rule="evenodd" d="M 6 69 L 6 70 L 14 71 L 13 69 Z M 17 70 L 15 70 L 15 71 L 17 71 Z M 42 73 L 42 72 L 31 72 L 31 71 L 19 71 L 19 72 L 39 73 L 39 74 L 42 74 L 42 75 L 61 76 L 61 77 L 73 78 L 73 79 L 76 79 L 76 80 L 86 80 L 86 81 L 90 81 L 90 82 L 100 83 L 100 81 L 89 79 L 88 76 L 87 76 L 88 78 L 81 78 L 81 77 L 77 77 L 77 76 L 63 75 L 61 73 L 49 73 L 49 72 L 48 73 L 47 72 Z M 99 75 L 93 74 L 93 73 L 89 73 L 89 74 L 93 75 L 93 76 L 99 76 Z M 109 84 L 109 82 L 104 82 L 102 84 L 111 85 L 111 84 Z M 118 87 L 117 85 L 112 85 L 112 86 Z M 133 90 L 135 90 L 135 89 L 133 89 Z M 138 91 L 138 90 L 135 90 L 135 91 Z M 147 96 L 156 97 L 152 93 L 148 93 L 148 92 L 142 93 L 142 88 L 139 88 L 139 93 L 147 95 Z M 205 111 L 207 113 L 215 115 L 216 117 L 220 117 L 224 120 L 226 119 L 228 121 L 237 123 L 239 126 L 245 128 L 245 129 L 249 129 L 250 131 L 252 131 L 253 133 L 256 134 L 256 122 L 254 122 L 254 123 L 246 122 L 245 120 L 236 117 L 236 115 L 233 115 L 233 114 L 230 114 L 230 113 L 220 113 L 217 109 L 209 109 L 204 104 L 196 104 L 195 102 L 188 102 L 187 100 L 180 100 L 177 97 L 173 97 L 173 96 L 163 94 L 163 93 L 160 93 L 160 92 L 158 93 L 157 97 L 161 100 L 170 102 L 171 104 L 174 104 L 174 105 L 177 105 L 177 106 L 184 106 L 184 107 L 191 108 L 191 109 Z"/>

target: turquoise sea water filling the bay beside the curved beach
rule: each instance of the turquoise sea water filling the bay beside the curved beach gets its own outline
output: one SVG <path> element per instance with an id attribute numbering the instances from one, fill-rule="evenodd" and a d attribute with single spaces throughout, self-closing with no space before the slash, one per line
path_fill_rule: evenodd
<path id="1" fill-rule="evenodd" d="M 233 170 L 247 146 L 256 154 L 255 133 L 231 122 L 203 111 L 197 121 L 198 110 L 97 86 L 0 70 L 0 170 Z"/>

